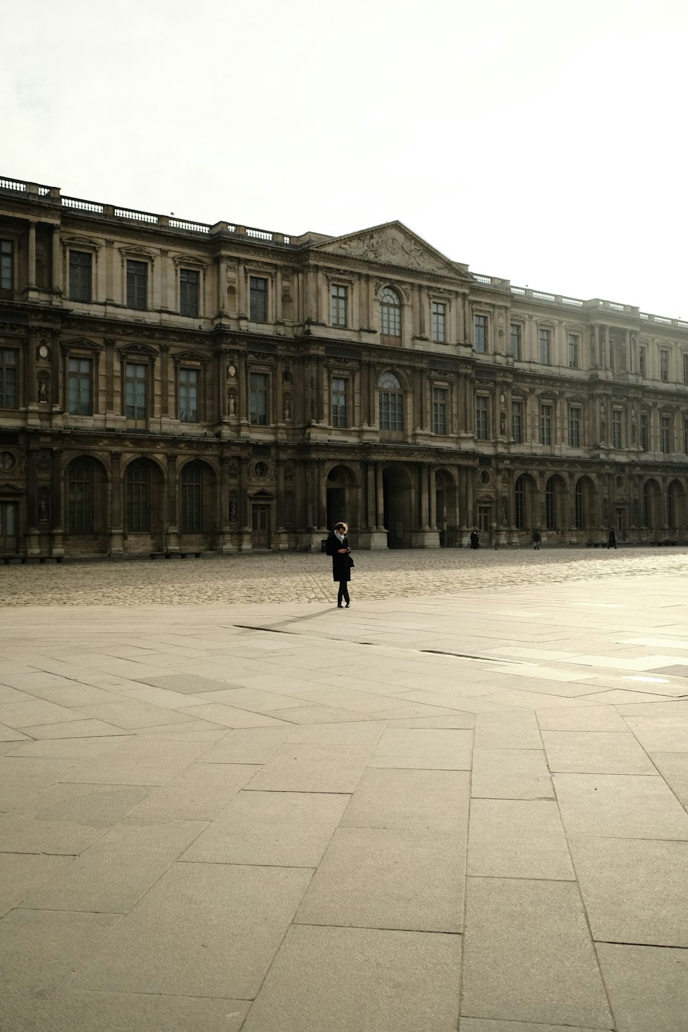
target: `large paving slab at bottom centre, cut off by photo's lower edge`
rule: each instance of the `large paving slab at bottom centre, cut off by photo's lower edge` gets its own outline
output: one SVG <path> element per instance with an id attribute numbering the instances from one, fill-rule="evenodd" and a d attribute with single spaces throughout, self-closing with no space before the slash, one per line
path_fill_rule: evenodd
<path id="1" fill-rule="evenodd" d="M 454 1032 L 461 936 L 293 927 L 242 1032 Z"/>

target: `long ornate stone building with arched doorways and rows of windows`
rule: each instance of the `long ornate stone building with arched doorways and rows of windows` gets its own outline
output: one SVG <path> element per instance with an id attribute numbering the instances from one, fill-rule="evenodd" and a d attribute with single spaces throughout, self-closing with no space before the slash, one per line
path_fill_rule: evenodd
<path id="1" fill-rule="evenodd" d="M 0 180 L 0 556 L 686 538 L 688 322 Z"/>

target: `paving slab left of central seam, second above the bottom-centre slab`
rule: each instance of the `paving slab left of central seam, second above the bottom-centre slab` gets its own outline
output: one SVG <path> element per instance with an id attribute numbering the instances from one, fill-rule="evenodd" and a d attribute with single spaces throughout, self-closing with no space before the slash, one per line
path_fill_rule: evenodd
<path id="1" fill-rule="evenodd" d="M 342 817 L 343 828 L 426 828 L 465 835 L 469 773 L 453 770 L 364 772 Z"/>

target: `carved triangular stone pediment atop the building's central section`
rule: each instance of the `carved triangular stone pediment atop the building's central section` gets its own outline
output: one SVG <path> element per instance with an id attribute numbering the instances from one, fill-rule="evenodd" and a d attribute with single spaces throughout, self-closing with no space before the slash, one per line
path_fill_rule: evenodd
<path id="1" fill-rule="evenodd" d="M 420 272 L 469 279 L 465 266 L 451 261 L 401 222 L 386 222 L 357 233 L 318 244 L 315 251 L 338 257 L 360 258 L 381 265 L 395 265 Z"/>

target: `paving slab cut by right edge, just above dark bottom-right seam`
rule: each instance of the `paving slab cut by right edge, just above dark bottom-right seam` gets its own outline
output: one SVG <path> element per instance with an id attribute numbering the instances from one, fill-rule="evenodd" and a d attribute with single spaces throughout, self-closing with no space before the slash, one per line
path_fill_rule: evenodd
<path id="1" fill-rule="evenodd" d="M 688 946 L 688 842 L 569 839 L 593 938 Z"/>

